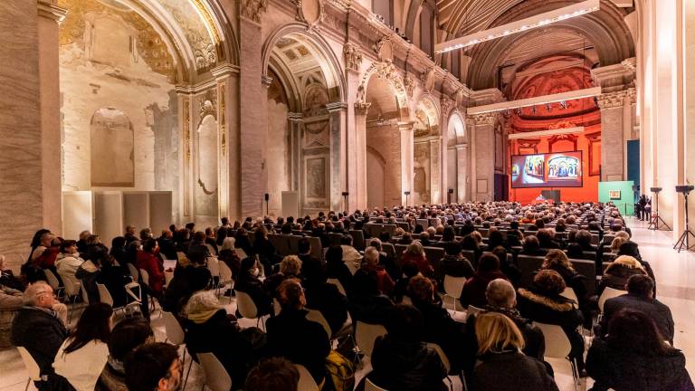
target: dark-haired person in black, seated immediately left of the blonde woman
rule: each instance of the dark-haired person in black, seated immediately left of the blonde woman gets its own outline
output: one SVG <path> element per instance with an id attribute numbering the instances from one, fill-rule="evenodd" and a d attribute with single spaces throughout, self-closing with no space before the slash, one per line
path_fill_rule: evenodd
<path id="1" fill-rule="evenodd" d="M 445 390 L 447 376 L 437 350 L 423 341 L 423 314 L 411 305 L 397 304 L 386 322 L 386 336 L 374 343 L 367 377 L 389 390 Z"/>

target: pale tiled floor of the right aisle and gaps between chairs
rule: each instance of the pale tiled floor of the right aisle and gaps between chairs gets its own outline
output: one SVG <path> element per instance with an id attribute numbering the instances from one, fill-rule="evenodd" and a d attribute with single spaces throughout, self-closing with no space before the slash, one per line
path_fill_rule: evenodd
<path id="1" fill-rule="evenodd" d="M 643 259 L 652 264 L 657 279 L 658 299 L 671 307 L 676 323 L 674 344 L 685 352 L 687 367 L 690 374 L 695 374 L 695 334 L 690 325 L 695 324 L 695 253 L 676 253 L 672 249 L 671 232 L 648 231 L 646 223 L 630 219 L 629 226 L 633 230 L 633 240 L 640 244 Z M 236 310 L 234 300 L 228 305 L 231 313 Z M 157 340 L 165 339 L 164 322 L 158 317 L 158 311 L 153 314 L 152 325 L 157 334 Z M 243 327 L 255 326 L 255 321 L 241 319 Z M 186 367 L 190 358 L 186 357 Z M 565 360 L 548 359 L 556 372 L 556 381 L 561 390 L 574 390 L 571 372 Z M 370 370 L 367 363 L 357 371 L 357 380 L 364 377 Z M 194 364 L 188 379 L 186 389 L 196 390 L 202 386 L 201 372 Z M 453 389 L 462 390 L 458 378 L 452 377 Z M 588 381 L 591 386 L 591 380 Z M 26 385 L 26 371 L 16 349 L 0 350 L 0 391 L 22 391 Z M 33 385 L 29 386 L 33 389 Z M 585 389 L 583 383 L 580 389 Z"/>

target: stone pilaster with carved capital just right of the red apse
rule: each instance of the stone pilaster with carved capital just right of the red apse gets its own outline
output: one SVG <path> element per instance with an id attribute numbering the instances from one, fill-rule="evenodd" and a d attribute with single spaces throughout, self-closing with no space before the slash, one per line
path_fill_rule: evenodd
<path id="1" fill-rule="evenodd" d="M 601 180 L 624 180 L 624 104 L 627 91 L 598 96 L 601 109 Z"/>

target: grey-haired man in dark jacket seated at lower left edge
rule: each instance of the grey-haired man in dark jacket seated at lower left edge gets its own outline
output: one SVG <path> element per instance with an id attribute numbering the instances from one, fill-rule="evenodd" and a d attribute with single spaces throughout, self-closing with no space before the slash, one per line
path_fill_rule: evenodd
<path id="1" fill-rule="evenodd" d="M 55 300 L 53 289 L 44 281 L 29 285 L 24 291 L 24 307 L 12 322 L 12 343 L 26 348 L 41 369 L 42 381 L 35 382 L 39 390 L 59 390 L 67 384 L 64 377 L 56 375 L 52 368 L 58 348 L 67 338 L 63 320 L 55 308 L 65 307 Z M 60 306 L 57 306 L 60 304 Z"/>

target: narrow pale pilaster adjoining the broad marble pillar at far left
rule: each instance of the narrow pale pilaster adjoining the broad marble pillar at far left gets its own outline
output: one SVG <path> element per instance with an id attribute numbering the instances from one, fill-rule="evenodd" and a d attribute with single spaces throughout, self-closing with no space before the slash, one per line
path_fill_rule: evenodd
<path id="1" fill-rule="evenodd" d="M 39 80 L 41 81 L 41 162 L 43 226 L 62 234 L 61 91 L 58 24 L 67 11 L 54 0 L 38 1 Z"/>

